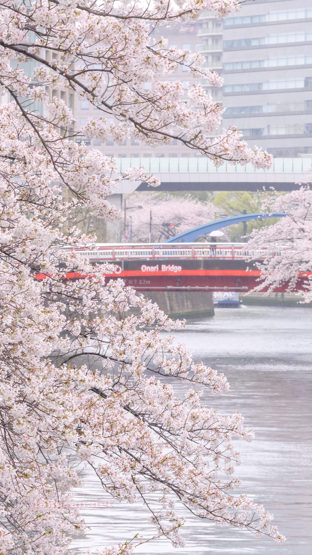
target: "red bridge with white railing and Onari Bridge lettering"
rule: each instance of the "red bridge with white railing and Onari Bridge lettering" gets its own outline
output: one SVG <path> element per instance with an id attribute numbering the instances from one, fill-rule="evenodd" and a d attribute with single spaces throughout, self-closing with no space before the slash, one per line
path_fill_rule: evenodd
<path id="1" fill-rule="evenodd" d="M 98 244 L 95 249 L 78 251 L 91 262 L 114 263 L 114 270 L 107 277 L 122 278 L 125 285 L 138 291 L 238 292 L 259 285 L 260 270 L 246 259 L 252 256 L 263 260 L 269 252 L 251 253 L 245 243 Z M 275 289 L 285 290 L 286 286 Z"/>

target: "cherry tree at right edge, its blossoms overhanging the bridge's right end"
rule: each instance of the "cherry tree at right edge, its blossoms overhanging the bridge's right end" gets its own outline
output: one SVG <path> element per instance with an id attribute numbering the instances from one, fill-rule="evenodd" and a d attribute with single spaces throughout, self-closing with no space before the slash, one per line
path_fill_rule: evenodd
<path id="1" fill-rule="evenodd" d="M 308 176 L 311 181 L 311 176 Z M 305 302 L 312 300 L 312 191 L 309 186 L 286 195 L 265 200 L 265 210 L 285 212 L 285 218 L 268 228 L 254 231 L 248 244 L 256 258 L 266 249 L 267 258 L 261 269 L 261 282 L 256 291 L 274 291 L 286 284 L 288 291 L 300 291 Z"/>

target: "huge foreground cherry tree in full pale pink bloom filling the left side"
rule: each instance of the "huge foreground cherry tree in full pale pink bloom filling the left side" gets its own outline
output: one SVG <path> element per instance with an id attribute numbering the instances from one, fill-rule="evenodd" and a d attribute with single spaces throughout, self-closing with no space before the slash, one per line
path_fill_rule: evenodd
<path id="1" fill-rule="evenodd" d="M 114 186 L 157 179 L 143 168 L 119 175 L 113 159 L 74 142 L 71 110 L 62 95 L 50 96 L 72 90 L 94 104 L 103 117 L 85 125 L 87 137 L 134 134 L 148 144 L 175 137 L 217 165 L 268 167 L 271 157 L 249 150 L 235 129 L 207 139 L 219 126 L 219 105 L 195 85 L 188 94 L 199 109 L 189 107 L 180 83 L 160 78 L 182 63 L 195 78 L 217 84 L 218 75 L 200 68 L 199 54 L 149 34 L 204 9 L 227 14 L 235 1 L 1 6 L 0 553 L 71 553 L 72 535 L 83 530 L 71 500 L 85 465 L 113 498 L 143 499 L 157 536 L 176 546 L 184 521 L 176 501 L 200 518 L 283 541 L 262 506 L 231 494 L 239 483 L 232 438 L 253 434 L 239 413 L 224 417 L 200 405 L 199 389 L 227 390 L 223 374 L 194 364 L 182 344 L 160 334 L 183 322 L 122 280 L 107 282 L 113 267 L 92 266 L 76 250 L 95 240 L 71 221 L 77 204 L 112 220 Z M 168 377 L 189 384 L 183 400 Z M 128 554 L 134 544 L 102 553 Z"/>

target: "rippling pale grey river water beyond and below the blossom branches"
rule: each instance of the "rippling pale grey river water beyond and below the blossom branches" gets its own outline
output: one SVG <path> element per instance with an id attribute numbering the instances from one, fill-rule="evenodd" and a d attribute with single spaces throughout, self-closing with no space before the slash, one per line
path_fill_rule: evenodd
<path id="1" fill-rule="evenodd" d="M 217 527 L 191 515 L 183 527 L 186 545 L 174 549 L 167 540 L 144 544 L 135 552 L 153 555 L 312 555 L 312 309 L 308 307 L 240 306 L 217 309 L 209 319 L 191 320 L 175 332 L 195 361 L 224 372 L 227 393 L 203 399 L 224 414 L 239 410 L 255 431 L 251 443 L 239 442 L 242 464 L 235 475 L 239 492 L 274 513 L 274 524 L 287 541 Z M 183 395 L 180 386 L 177 393 Z M 105 501 L 92 475 L 76 499 Z M 113 502 L 112 508 L 81 509 L 90 527 L 75 538 L 77 554 L 105 545 L 152 536 L 148 513 L 141 504 Z"/>

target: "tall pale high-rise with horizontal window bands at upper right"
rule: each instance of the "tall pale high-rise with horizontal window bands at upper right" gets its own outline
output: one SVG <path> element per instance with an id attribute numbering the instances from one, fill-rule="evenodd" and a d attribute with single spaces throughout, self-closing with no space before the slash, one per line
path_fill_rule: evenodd
<path id="1" fill-rule="evenodd" d="M 312 6 L 252 0 L 223 21 L 225 124 L 277 157 L 312 153 Z"/>

